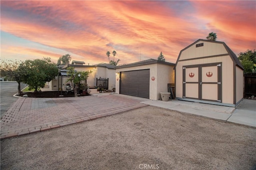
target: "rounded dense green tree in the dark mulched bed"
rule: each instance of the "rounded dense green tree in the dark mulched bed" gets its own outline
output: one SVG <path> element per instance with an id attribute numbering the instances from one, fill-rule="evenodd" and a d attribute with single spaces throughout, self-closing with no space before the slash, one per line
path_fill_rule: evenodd
<path id="1" fill-rule="evenodd" d="M 43 88 L 46 82 L 50 82 L 58 76 L 58 68 L 50 58 L 26 60 L 18 69 L 22 75 L 22 82 L 28 84 L 30 89 Z"/>

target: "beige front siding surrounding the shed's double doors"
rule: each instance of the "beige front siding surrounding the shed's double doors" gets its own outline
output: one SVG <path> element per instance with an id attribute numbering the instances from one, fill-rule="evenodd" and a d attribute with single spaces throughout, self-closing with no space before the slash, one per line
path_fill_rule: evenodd
<path id="1" fill-rule="evenodd" d="M 211 44 L 215 44 L 215 43 L 211 43 Z M 221 44 L 216 44 L 216 45 L 221 45 Z M 201 48 L 201 47 L 198 47 L 198 48 Z M 219 51 L 222 51 L 222 50 L 219 50 Z M 211 58 L 205 58 L 205 59 L 194 59 L 194 60 L 178 62 L 176 66 L 176 97 L 182 98 L 182 95 L 183 95 L 182 94 L 182 86 L 183 86 L 182 67 L 183 66 L 194 65 L 194 64 L 208 64 L 208 63 L 213 63 L 213 61 L 214 63 L 222 62 L 222 102 L 233 104 L 233 98 L 234 98 L 233 61 L 228 55 L 221 56 L 221 57 L 211 57 Z"/>

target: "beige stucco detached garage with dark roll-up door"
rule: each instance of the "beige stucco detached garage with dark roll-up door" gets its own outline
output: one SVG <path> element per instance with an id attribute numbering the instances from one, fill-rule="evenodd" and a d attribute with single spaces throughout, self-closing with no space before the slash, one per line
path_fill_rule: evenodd
<path id="1" fill-rule="evenodd" d="M 174 63 L 148 59 L 116 67 L 116 93 L 158 100 L 174 84 Z"/>

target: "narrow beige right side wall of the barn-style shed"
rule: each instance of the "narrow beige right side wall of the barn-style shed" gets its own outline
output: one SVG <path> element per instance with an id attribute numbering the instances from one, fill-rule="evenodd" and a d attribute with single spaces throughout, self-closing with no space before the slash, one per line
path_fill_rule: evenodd
<path id="1" fill-rule="evenodd" d="M 244 82 L 244 72 L 241 68 L 236 66 L 236 102 L 239 102 L 243 98 L 243 83 Z"/>

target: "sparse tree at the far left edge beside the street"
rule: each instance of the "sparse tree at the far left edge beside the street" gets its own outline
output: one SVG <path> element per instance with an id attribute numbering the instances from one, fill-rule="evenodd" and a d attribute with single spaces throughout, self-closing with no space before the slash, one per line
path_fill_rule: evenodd
<path id="1" fill-rule="evenodd" d="M 7 78 L 10 78 L 12 80 L 15 80 L 16 82 L 18 82 L 18 95 L 20 95 L 21 90 L 20 90 L 20 83 L 22 82 L 22 72 L 20 72 L 20 70 L 18 69 L 21 61 L 11 61 L 8 60 L 11 63 L 7 63 L 6 61 L 1 62 L 0 65 L 0 72 L 1 72 L 1 76 L 5 76 Z"/>

